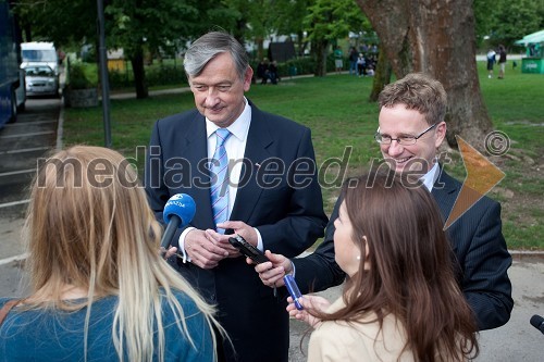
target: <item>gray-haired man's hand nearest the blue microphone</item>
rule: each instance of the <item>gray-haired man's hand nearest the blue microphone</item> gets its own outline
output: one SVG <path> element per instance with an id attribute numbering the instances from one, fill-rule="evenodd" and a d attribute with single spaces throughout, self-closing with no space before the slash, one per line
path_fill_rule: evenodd
<path id="1" fill-rule="evenodd" d="M 215 232 L 193 229 L 185 237 L 185 252 L 190 257 L 190 262 L 201 269 L 213 269 L 228 257 L 228 250 L 212 237 L 212 233 Z"/>

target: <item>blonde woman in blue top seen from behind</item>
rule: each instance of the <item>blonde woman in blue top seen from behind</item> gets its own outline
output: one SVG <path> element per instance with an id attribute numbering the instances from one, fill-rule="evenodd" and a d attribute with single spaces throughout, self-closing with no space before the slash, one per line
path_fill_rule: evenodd
<path id="1" fill-rule="evenodd" d="M 0 326 L 0 361 L 215 361 L 214 308 L 159 254 L 161 226 L 128 162 L 75 146 L 49 158 L 26 219 L 30 294 Z"/>

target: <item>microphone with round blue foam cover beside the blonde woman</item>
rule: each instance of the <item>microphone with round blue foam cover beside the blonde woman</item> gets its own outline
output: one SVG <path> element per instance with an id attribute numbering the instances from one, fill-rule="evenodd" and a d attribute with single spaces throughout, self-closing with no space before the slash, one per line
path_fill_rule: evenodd
<path id="1" fill-rule="evenodd" d="M 182 228 L 195 216 L 195 200 L 187 194 L 176 194 L 164 205 L 162 217 L 168 224 L 161 239 L 161 248 L 166 249 L 177 228 Z"/>

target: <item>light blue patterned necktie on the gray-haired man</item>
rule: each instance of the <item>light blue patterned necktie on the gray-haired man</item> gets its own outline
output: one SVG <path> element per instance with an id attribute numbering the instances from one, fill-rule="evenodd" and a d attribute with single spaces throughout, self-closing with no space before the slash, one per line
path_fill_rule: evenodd
<path id="1" fill-rule="evenodd" d="M 225 222 L 228 214 L 228 157 L 224 143 L 231 135 L 226 128 L 215 130 L 215 152 L 213 152 L 210 165 L 210 197 L 215 225 Z M 218 228 L 218 233 L 223 234 L 224 232 L 224 229 Z"/>

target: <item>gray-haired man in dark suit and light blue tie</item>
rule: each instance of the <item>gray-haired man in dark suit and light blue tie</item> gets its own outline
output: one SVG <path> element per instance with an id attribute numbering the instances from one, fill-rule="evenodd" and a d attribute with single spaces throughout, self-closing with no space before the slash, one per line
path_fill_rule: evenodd
<path id="1" fill-rule="evenodd" d="M 260 282 L 227 234 L 288 257 L 323 236 L 327 220 L 310 129 L 262 112 L 244 97 L 254 71 L 231 35 L 212 32 L 197 39 L 184 66 L 196 109 L 154 125 L 146 164 L 151 209 L 162 220 L 173 195 L 188 194 L 196 201 L 190 225 L 172 239 L 180 251 L 172 264 L 218 305 L 218 319 L 232 340 L 232 346 L 220 344 L 220 361 L 286 362 L 285 296 Z M 215 158 L 219 148 L 222 157 Z M 214 192 L 210 186 L 220 173 L 212 165 L 225 152 L 227 182 Z"/>

